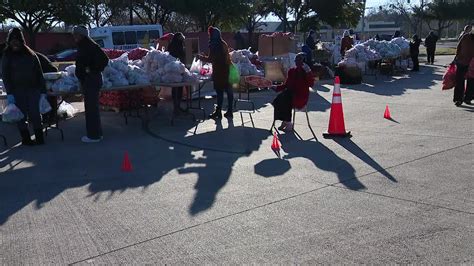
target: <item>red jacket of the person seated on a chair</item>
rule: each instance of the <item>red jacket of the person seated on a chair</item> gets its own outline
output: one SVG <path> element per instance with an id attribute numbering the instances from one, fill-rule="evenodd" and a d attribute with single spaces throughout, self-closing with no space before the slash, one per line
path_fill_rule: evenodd
<path id="1" fill-rule="evenodd" d="M 314 85 L 314 75 L 312 72 L 306 73 L 301 67 L 294 67 L 288 70 L 288 77 L 285 83 L 277 87 L 277 91 L 285 88 L 293 92 L 293 108 L 301 109 L 306 106 L 309 98 L 309 88 Z"/>

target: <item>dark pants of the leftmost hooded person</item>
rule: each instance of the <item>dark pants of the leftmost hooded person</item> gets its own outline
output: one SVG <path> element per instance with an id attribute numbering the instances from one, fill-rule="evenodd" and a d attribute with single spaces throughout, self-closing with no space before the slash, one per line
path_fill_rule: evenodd
<path id="1" fill-rule="evenodd" d="M 39 91 L 17 92 L 15 96 L 15 104 L 21 110 L 25 118 L 17 123 L 20 131 L 28 130 L 26 121 L 33 124 L 33 129 L 42 129 L 41 114 L 39 112 Z"/>

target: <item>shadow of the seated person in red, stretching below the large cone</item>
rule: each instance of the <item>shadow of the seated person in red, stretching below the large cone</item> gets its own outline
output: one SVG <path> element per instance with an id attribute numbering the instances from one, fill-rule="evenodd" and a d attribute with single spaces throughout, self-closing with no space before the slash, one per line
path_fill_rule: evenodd
<path id="1" fill-rule="evenodd" d="M 366 188 L 357 179 L 354 167 L 321 142 L 300 141 L 294 134 L 285 134 L 280 137 L 280 140 L 283 151 L 287 153 L 283 159 L 306 158 L 317 168 L 335 173 L 339 183 L 348 189 L 362 190 Z"/>

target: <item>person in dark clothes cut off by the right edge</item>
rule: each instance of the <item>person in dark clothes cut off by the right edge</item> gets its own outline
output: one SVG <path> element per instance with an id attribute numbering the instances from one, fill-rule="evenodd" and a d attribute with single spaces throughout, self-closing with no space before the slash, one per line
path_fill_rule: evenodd
<path id="1" fill-rule="evenodd" d="M 461 106 L 462 102 L 472 104 L 474 98 L 474 79 L 467 79 L 467 88 L 465 87 L 466 73 L 469 70 L 469 64 L 474 58 L 474 32 L 465 34 L 458 43 L 456 49 L 456 87 L 454 87 L 453 101 L 456 106 Z M 464 89 L 466 92 L 464 93 Z"/>

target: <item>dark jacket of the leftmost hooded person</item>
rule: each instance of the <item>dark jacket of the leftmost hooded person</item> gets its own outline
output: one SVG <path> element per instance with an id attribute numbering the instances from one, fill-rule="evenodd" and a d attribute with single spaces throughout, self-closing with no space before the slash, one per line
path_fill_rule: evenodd
<path id="1" fill-rule="evenodd" d="M 7 94 L 22 94 L 39 90 L 46 93 L 43 70 L 36 54 L 5 51 L 2 77 Z"/>

